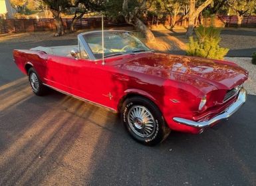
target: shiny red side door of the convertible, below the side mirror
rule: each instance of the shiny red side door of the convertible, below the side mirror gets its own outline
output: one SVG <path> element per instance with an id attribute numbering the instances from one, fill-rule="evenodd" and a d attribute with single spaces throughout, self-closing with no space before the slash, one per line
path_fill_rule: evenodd
<path id="1" fill-rule="evenodd" d="M 72 57 L 49 55 L 45 81 L 53 88 L 87 98 L 91 64 L 92 62 L 86 59 L 76 60 Z"/>

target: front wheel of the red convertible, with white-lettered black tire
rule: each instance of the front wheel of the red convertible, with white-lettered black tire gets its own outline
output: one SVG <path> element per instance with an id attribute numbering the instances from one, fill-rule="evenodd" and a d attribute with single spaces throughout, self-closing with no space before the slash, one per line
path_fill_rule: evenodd
<path id="1" fill-rule="evenodd" d="M 146 98 L 125 100 L 121 118 L 132 138 L 144 145 L 156 145 L 170 134 L 160 110 Z"/>

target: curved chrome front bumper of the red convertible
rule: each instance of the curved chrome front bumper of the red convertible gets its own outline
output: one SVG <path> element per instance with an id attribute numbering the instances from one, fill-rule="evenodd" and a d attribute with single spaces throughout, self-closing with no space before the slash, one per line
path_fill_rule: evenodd
<path id="1" fill-rule="evenodd" d="M 237 110 L 245 103 L 246 100 L 246 90 L 244 88 L 241 88 L 237 100 L 231 104 L 225 111 L 221 112 L 221 114 L 215 116 L 211 120 L 203 121 L 203 122 L 195 122 L 193 120 L 187 120 L 184 118 L 177 118 L 174 117 L 173 120 L 175 122 L 178 122 L 180 124 L 184 124 L 186 126 L 192 126 L 195 128 L 207 128 L 214 124 L 215 122 L 223 119 L 229 118 L 232 114 L 237 112 Z"/>

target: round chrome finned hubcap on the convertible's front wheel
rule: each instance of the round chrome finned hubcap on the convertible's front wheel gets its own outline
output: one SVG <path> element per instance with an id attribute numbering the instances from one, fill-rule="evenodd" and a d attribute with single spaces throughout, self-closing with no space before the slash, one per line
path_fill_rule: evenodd
<path id="1" fill-rule="evenodd" d="M 133 106 L 129 110 L 128 124 L 132 131 L 142 138 L 152 136 L 156 130 L 154 117 L 144 106 Z"/>

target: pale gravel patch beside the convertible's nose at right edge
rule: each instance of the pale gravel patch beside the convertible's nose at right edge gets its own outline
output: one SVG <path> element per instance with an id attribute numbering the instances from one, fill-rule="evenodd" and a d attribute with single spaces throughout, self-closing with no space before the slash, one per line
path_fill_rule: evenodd
<path id="1" fill-rule="evenodd" d="M 247 90 L 248 94 L 256 95 L 256 65 L 251 63 L 251 58 L 225 57 L 225 60 L 235 62 L 249 72 L 249 78 L 245 82 L 244 87 Z"/>

